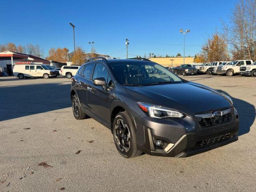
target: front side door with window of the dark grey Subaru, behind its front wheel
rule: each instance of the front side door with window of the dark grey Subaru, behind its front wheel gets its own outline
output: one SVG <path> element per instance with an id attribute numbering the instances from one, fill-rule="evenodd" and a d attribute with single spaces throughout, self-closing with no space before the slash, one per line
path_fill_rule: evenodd
<path id="1" fill-rule="evenodd" d="M 112 80 L 106 67 L 97 63 L 92 80 L 100 77 L 105 78 L 106 86 L 96 86 L 93 82 L 88 84 L 88 107 L 94 114 L 109 122 L 109 96 L 113 92 L 113 89 L 110 88 L 112 87 Z"/>

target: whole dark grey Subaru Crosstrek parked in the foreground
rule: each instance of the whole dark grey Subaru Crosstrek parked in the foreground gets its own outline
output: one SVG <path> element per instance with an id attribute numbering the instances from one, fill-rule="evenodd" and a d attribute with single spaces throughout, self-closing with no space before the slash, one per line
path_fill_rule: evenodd
<path id="1" fill-rule="evenodd" d="M 72 78 L 70 97 L 74 117 L 90 116 L 109 128 L 125 158 L 187 157 L 238 140 L 229 96 L 155 62 L 92 58 Z"/>

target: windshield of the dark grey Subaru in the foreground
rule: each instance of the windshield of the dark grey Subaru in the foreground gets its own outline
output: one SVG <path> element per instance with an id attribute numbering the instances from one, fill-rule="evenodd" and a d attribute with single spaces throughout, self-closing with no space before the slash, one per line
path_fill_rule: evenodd
<path id="1" fill-rule="evenodd" d="M 178 76 L 154 62 L 110 63 L 109 65 L 116 80 L 126 86 L 184 82 Z M 149 67 L 151 71 L 147 71 Z"/>

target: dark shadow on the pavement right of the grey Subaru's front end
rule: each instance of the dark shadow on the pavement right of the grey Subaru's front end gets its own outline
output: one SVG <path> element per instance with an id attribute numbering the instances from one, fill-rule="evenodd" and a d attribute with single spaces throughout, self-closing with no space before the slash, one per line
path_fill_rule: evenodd
<path id="1" fill-rule="evenodd" d="M 223 90 L 216 89 L 216 91 L 230 96 L 228 93 L 226 93 Z M 232 99 L 234 103 L 234 107 L 236 108 L 239 114 L 240 125 L 239 125 L 238 136 L 241 136 L 250 132 L 250 127 L 254 123 L 254 120 L 256 117 L 256 110 L 252 104 L 244 100 L 234 98 L 232 96 L 230 96 L 230 98 Z"/>

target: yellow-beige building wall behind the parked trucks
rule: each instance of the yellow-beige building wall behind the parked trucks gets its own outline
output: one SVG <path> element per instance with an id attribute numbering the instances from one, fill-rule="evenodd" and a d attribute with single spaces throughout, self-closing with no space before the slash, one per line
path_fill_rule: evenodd
<path id="1" fill-rule="evenodd" d="M 171 61 L 173 59 L 173 61 Z M 149 60 L 156 62 L 165 67 L 175 67 L 183 64 L 183 57 L 157 57 L 157 58 L 149 58 Z M 185 57 L 185 64 L 194 63 L 194 57 Z"/>

